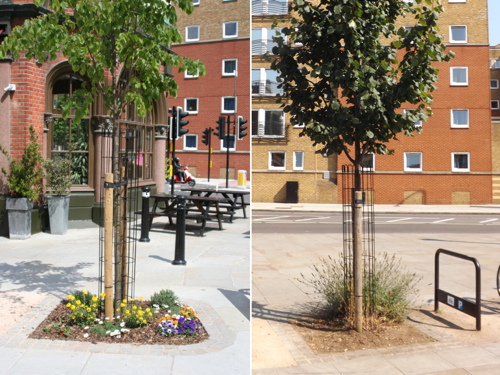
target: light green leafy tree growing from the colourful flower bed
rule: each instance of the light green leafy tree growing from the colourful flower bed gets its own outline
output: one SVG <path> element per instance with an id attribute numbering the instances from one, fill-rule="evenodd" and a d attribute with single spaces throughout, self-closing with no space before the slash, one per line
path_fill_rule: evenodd
<path id="1" fill-rule="evenodd" d="M 44 0 L 36 0 L 42 6 Z M 89 105 L 100 94 L 113 121 L 113 174 L 114 182 L 126 180 L 121 175 L 122 160 L 117 122 L 130 103 L 134 103 L 140 116 L 145 116 L 153 102 L 161 95 L 175 96 L 178 86 L 162 68 L 177 66 L 200 75 L 205 73 L 198 60 L 181 58 L 169 46 L 180 43 L 175 27 L 176 8 L 191 13 L 191 0 L 51 0 L 50 11 L 17 26 L 0 45 L 0 58 L 27 59 L 37 63 L 68 59 L 73 71 L 85 78 L 83 87 L 68 100 L 62 101 L 63 117 L 72 110 L 75 122 L 87 115 Z M 114 189 L 115 202 L 121 202 L 120 189 Z M 114 218 L 126 212 L 115 205 Z M 115 262 L 128 259 L 123 248 L 126 230 L 115 227 Z M 126 298 L 126 278 L 120 267 L 115 268 L 115 306 Z"/>

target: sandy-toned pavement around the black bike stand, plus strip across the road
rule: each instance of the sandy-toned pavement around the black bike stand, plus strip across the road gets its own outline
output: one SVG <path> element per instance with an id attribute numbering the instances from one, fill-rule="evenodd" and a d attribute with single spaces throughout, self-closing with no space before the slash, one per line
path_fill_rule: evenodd
<path id="1" fill-rule="evenodd" d="M 261 210 L 339 212 L 339 204 L 252 203 Z M 376 205 L 377 213 L 484 214 L 500 219 L 500 206 Z M 498 227 L 498 226 L 497 226 Z M 481 266 L 481 330 L 476 319 L 440 303 L 434 312 L 434 259 L 439 248 L 475 257 Z M 500 297 L 495 280 L 500 233 L 375 233 L 376 254 L 395 255 L 421 277 L 408 324 L 434 341 L 318 354 L 289 323 L 300 320 L 320 297 L 302 281 L 342 252 L 342 234 L 252 233 L 252 368 L 254 375 L 292 374 L 500 374 Z M 475 298 L 470 262 L 440 256 L 440 288 Z"/>

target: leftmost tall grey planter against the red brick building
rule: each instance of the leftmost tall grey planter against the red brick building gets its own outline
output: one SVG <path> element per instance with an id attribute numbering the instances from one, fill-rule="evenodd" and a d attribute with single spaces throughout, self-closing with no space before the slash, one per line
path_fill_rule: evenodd
<path id="1" fill-rule="evenodd" d="M 9 238 L 25 240 L 31 237 L 31 209 L 28 198 L 7 198 L 5 208 L 9 218 Z"/>

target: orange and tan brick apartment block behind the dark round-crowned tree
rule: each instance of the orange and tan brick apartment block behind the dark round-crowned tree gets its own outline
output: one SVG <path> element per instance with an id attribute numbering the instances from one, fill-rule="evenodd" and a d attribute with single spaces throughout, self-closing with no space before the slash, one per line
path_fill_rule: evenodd
<path id="1" fill-rule="evenodd" d="M 254 46 L 259 32 L 272 35 L 273 13 L 280 4 L 286 17 L 286 3 L 256 0 Z M 388 148 L 394 155 L 372 155 L 375 203 L 383 204 L 486 204 L 492 202 L 492 131 L 490 111 L 490 69 L 487 0 L 444 0 L 439 25 L 448 50 L 456 56 L 439 63 L 438 89 L 433 93 L 434 115 L 414 137 L 401 135 Z M 262 11 L 261 11 L 262 9 Z M 267 12 L 267 13 L 266 13 Z M 401 26 L 410 20 L 401 20 Z M 261 31 L 256 26 L 261 26 Z M 262 31 L 265 29 L 265 32 Z M 270 42 L 268 42 L 270 44 Z M 258 46 L 257 46 L 258 48 Z M 252 68 L 268 74 L 269 64 L 261 51 L 253 51 Z M 269 72 L 272 77 L 272 72 Z M 300 129 L 289 125 L 271 95 L 253 91 L 253 197 L 255 201 L 283 202 L 287 185 L 298 183 L 299 202 L 341 202 L 340 170 L 348 164 L 344 155 L 323 157 L 312 142 L 299 138 Z M 265 116 L 261 106 L 276 116 Z M 401 110 L 411 110 L 410 107 Z M 268 126 L 267 119 L 279 126 Z M 275 129 L 279 129 L 279 134 Z M 274 133 L 272 133 L 275 131 Z M 283 161 L 283 162 L 282 162 Z M 271 184 L 272 183 L 272 184 Z"/>

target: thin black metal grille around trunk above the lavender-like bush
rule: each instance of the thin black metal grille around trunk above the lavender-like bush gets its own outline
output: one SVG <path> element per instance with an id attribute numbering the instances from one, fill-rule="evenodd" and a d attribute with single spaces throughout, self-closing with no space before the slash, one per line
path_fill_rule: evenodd
<path id="1" fill-rule="evenodd" d="M 344 287 L 350 290 L 354 277 L 353 264 L 353 212 L 354 166 L 342 166 L 342 221 L 343 221 L 343 264 Z M 375 274 L 375 214 L 373 190 L 373 170 L 361 172 L 363 192 L 363 311 L 365 316 L 374 313 L 375 288 L 372 284 Z"/>

